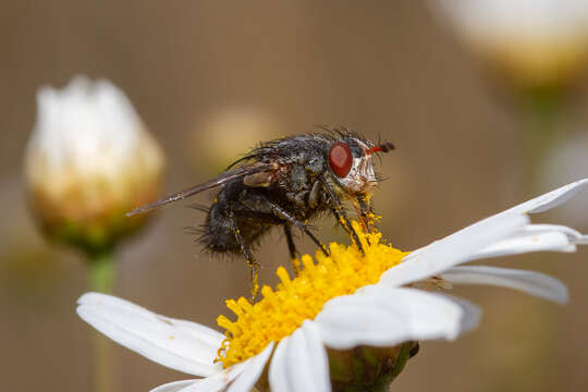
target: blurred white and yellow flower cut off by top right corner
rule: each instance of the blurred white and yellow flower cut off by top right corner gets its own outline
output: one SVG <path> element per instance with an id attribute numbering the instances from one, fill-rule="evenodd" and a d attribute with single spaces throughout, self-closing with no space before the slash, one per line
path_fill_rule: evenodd
<path id="1" fill-rule="evenodd" d="M 587 0 L 430 0 L 482 58 L 523 87 L 575 79 L 588 62 Z"/>

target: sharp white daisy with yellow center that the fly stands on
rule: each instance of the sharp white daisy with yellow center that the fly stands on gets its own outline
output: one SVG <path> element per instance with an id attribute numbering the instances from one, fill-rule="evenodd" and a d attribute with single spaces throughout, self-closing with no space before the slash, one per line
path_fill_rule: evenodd
<path id="1" fill-rule="evenodd" d="M 200 377 L 152 392 L 331 391 L 344 382 L 344 355 L 338 354 L 354 347 L 375 347 L 366 356 L 383 371 L 375 381 L 381 387 L 402 370 L 415 342 L 454 340 L 478 322 L 475 305 L 425 289 L 489 284 L 565 303 L 565 285 L 540 272 L 461 265 L 588 244 L 588 236 L 573 229 L 531 224 L 527 216 L 561 205 L 586 186 L 588 179 L 568 184 L 412 253 L 394 249 L 379 233 L 362 234 L 365 255 L 356 246 L 331 244 L 329 257 L 303 256 L 296 278 L 279 268 L 281 283 L 275 290 L 265 286 L 258 303 L 229 301 L 236 319 L 219 317 L 225 334 L 96 293 L 79 298 L 77 313 L 138 354 Z"/>

